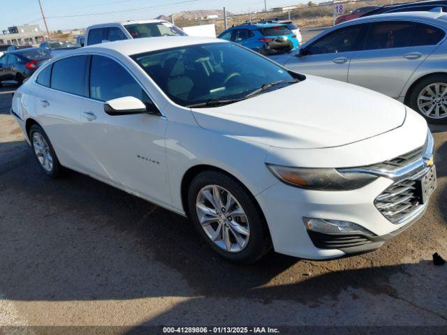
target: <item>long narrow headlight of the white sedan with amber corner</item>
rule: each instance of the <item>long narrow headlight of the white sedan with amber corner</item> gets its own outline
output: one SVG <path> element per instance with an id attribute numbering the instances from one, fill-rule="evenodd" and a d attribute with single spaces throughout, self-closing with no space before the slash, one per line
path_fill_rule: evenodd
<path id="1" fill-rule="evenodd" d="M 348 191 L 363 187 L 377 176 L 362 172 L 339 172 L 323 168 L 290 168 L 267 164 L 268 169 L 286 184 L 320 191 Z"/>

